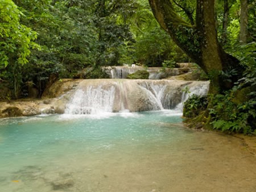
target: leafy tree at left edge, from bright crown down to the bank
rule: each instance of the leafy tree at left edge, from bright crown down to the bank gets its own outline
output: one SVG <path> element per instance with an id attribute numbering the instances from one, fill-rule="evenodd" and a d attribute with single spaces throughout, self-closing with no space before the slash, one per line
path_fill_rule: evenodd
<path id="1" fill-rule="evenodd" d="M 13 1 L 0 4 L 0 78 L 8 81 L 13 96 L 18 98 L 22 83 L 22 66 L 27 64 L 32 48 L 40 49 L 34 41 L 35 31 L 20 22 L 24 16 Z"/>

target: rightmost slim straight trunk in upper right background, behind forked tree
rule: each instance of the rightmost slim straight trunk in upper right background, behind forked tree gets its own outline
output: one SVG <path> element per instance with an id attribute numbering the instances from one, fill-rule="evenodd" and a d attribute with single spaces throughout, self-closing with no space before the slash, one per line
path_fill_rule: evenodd
<path id="1" fill-rule="evenodd" d="M 248 24 L 248 1 L 241 2 L 241 18 L 240 18 L 240 41 L 246 43 L 247 40 L 247 24 Z"/>

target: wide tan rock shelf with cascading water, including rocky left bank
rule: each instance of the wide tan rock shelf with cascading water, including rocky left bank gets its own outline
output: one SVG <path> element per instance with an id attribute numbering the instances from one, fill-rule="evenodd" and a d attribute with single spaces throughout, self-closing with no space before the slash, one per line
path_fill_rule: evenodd
<path id="1" fill-rule="evenodd" d="M 186 86 L 187 93 L 183 91 Z M 208 87 L 208 81 L 63 79 L 49 87 L 41 100 L 1 102 L 0 117 L 166 109 L 180 114 L 189 95 L 206 95 Z"/>

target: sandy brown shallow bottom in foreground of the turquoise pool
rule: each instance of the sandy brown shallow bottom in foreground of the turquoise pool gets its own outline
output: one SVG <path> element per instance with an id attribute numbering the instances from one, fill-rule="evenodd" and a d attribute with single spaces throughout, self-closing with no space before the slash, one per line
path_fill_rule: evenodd
<path id="1" fill-rule="evenodd" d="M 67 141 L 59 143 L 67 154 L 51 160 L 39 154 L 40 164 L 26 164 L 24 157 L 19 166 L 2 167 L 0 191 L 256 191 L 256 156 L 245 144 L 255 147 L 255 137 L 242 140 L 180 124 L 163 129 L 172 126 L 185 136 L 126 150 L 122 140 L 91 152 L 69 152 Z"/>

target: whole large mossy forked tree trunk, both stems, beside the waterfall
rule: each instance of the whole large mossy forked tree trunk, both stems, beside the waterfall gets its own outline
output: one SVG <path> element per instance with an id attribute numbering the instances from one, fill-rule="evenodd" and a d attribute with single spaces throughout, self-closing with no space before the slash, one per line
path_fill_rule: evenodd
<path id="1" fill-rule="evenodd" d="M 175 12 L 170 0 L 148 0 L 156 20 L 174 42 L 208 74 L 210 93 L 219 93 L 220 72 L 237 66 L 238 60 L 226 54 L 217 40 L 214 0 L 197 0 L 196 25 L 192 26 Z M 236 81 L 236 80 L 234 80 Z"/>

